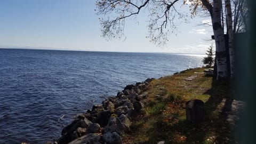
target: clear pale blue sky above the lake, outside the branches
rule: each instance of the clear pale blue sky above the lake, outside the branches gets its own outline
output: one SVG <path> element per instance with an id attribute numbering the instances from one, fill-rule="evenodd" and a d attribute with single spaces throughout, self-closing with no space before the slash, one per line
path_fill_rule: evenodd
<path id="1" fill-rule="evenodd" d="M 203 54 L 212 43 L 204 41 L 213 35 L 212 28 L 197 26 L 210 18 L 197 17 L 189 23 L 179 23 L 177 35 L 170 35 L 165 47 L 157 47 L 146 38 L 143 13 L 137 18 L 139 24 L 127 20 L 125 41 L 106 41 L 100 36 L 99 17 L 94 9 L 92 0 L 0 0 L 0 47 Z"/>

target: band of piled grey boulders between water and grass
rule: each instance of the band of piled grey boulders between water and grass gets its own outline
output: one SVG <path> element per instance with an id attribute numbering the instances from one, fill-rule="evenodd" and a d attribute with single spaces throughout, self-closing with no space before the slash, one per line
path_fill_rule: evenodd
<path id="1" fill-rule="evenodd" d="M 54 143 L 122 143 L 121 135 L 130 130 L 132 117 L 145 106 L 147 87 L 154 78 L 135 85 L 126 85 L 116 97 L 108 97 L 102 105 L 93 105 L 91 110 L 75 117 L 64 127 L 61 137 Z"/>

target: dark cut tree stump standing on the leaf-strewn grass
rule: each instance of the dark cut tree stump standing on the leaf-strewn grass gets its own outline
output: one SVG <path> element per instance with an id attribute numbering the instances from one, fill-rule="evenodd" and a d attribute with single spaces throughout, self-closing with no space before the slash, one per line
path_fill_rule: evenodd
<path id="1" fill-rule="evenodd" d="M 186 118 L 189 122 L 200 124 L 205 117 L 204 102 L 202 100 L 190 100 L 186 102 Z"/>

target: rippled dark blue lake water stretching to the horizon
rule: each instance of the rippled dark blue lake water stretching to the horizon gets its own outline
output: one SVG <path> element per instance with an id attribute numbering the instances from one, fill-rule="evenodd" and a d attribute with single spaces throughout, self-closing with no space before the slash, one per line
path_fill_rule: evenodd
<path id="1" fill-rule="evenodd" d="M 0 49 L 0 143 L 59 138 L 127 84 L 202 67 L 204 55 Z"/>

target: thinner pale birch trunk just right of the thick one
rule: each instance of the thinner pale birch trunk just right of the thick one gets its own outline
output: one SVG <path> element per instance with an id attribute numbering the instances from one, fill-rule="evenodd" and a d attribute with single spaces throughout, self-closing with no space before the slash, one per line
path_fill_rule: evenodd
<path id="1" fill-rule="evenodd" d="M 225 1 L 226 10 L 227 10 L 227 31 L 228 31 L 228 47 L 229 47 L 229 59 L 230 59 L 230 78 L 233 78 L 234 75 L 234 61 L 235 61 L 235 52 L 234 52 L 234 33 L 232 26 L 232 11 L 230 0 Z"/>

